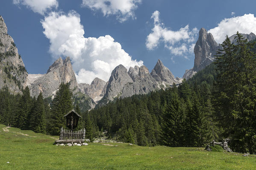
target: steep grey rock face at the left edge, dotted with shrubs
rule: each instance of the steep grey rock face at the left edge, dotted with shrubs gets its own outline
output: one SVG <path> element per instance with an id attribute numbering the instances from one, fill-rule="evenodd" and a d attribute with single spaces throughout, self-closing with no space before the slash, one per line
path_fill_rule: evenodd
<path id="1" fill-rule="evenodd" d="M 7 34 L 7 26 L 0 16 L 0 88 L 7 86 L 11 93 L 21 93 L 26 85 L 27 75 L 18 48 Z"/>

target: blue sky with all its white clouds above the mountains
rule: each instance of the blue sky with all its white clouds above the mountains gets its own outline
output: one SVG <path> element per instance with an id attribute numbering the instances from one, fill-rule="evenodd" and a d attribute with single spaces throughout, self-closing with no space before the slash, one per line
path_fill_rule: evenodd
<path id="1" fill-rule="evenodd" d="M 45 74 L 69 56 L 77 81 L 108 81 L 119 64 L 127 69 L 158 59 L 182 77 L 194 65 L 200 28 L 218 43 L 226 35 L 256 34 L 252 0 L 0 0 L 0 15 L 29 74 Z"/>

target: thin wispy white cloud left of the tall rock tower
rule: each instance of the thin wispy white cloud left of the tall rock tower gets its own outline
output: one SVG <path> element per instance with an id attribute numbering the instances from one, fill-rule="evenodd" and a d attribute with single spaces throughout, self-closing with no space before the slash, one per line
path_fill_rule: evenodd
<path id="1" fill-rule="evenodd" d="M 154 11 L 151 16 L 151 19 L 154 20 L 154 27 L 147 36 L 147 49 L 153 50 L 157 48 L 160 42 L 164 42 L 165 47 L 171 51 L 171 54 L 184 55 L 190 53 L 191 43 L 195 41 L 198 29 L 193 28 L 190 31 L 189 26 L 186 25 L 178 31 L 172 31 L 166 28 L 164 23 L 161 23 L 159 16 L 159 11 Z"/>

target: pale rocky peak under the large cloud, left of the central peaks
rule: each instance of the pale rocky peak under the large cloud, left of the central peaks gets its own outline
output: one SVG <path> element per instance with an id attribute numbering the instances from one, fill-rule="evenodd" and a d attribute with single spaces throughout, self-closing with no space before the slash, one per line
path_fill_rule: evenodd
<path id="1" fill-rule="evenodd" d="M 61 82 L 70 82 L 71 89 L 77 87 L 77 80 L 70 58 L 57 59 L 47 71 L 47 74 L 29 74 L 28 83 L 30 94 L 38 96 L 42 92 L 44 97 L 54 96 Z"/>

